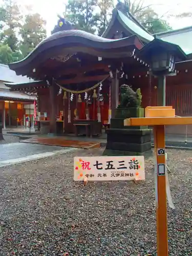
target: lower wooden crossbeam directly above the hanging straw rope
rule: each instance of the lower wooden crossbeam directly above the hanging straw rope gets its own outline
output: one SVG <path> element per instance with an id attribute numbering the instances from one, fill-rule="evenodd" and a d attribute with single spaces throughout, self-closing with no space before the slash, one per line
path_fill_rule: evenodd
<path id="1" fill-rule="evenodd" d="M 81 83 L 81 82 L 91 82 L 91 81 L 101 81 L 104 78 L 107 78 L 109 75 L 98 75 L 98 76 L 80 76 L 71 79 L 65 80 L 57 80 L 57 83 L 62 86 L 63 84 L 70 84 L 70 83 Z"/>

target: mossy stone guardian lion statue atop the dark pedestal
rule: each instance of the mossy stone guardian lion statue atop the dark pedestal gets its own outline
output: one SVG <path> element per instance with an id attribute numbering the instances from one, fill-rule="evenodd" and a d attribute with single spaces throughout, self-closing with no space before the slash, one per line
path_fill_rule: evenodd
<path id="1" fill-rule="evenodd" d="M 127 84 L 120 87 L 120 103 L 118 108 L 140 108 L 141 107 L 141 90 L 137 89 L 136 92 Z"/>

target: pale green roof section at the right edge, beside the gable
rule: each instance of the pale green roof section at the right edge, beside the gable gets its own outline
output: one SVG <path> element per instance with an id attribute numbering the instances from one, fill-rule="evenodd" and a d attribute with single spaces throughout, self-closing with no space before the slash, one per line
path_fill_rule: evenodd
<path id="1" fill-rule="evenodd" d="M 157 33 L 156 37 L 180 46 L 186 54 L 192 53 L 192 26 Z"/>

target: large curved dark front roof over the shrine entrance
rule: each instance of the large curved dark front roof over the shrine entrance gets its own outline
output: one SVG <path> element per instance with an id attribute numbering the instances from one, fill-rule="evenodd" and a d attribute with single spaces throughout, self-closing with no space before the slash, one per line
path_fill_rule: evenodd
<path id="1" fill-rule="evenodd" d="M 57 32 L 43 41 L 23 60 L 10 63 L 10 69 L 17 75 L 28 75 L 45 60 L 59 54 L 77 52 L 106 58 L 130 56 L 134 49 L 143 47 L 139 38 L 134 35 L 122 39 L 108 39 L 81 30 Z"/>

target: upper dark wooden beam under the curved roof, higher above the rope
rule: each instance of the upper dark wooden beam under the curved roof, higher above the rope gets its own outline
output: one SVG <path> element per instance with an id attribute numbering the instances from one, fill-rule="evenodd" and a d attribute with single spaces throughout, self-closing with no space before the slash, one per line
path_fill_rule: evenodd
<path id="1" fill-rule="evenodd" d="M 85 72 L 90 72 L 90 71 L 94 71 L 94 70 L 98 70 L 98 69 L 102 69 L 104 71 L 109 71 L 109 67 L 106 63 L 90 63 L 87 66 L 83 66 L 83 67 L 77 67 L 77 68 L 71 68 L 71 69 L 65 69 L 63 70 L 64 67 L 62 67 L 62 69 L 58 70 L 54 77 L 56 78 L 57 76 L 64 76 L 64 75 L 71 75 L 71 74 L 77 74 L 78 75 L 83 75 Z M 53 72 L 54 73 L 54 72 Z"/>

